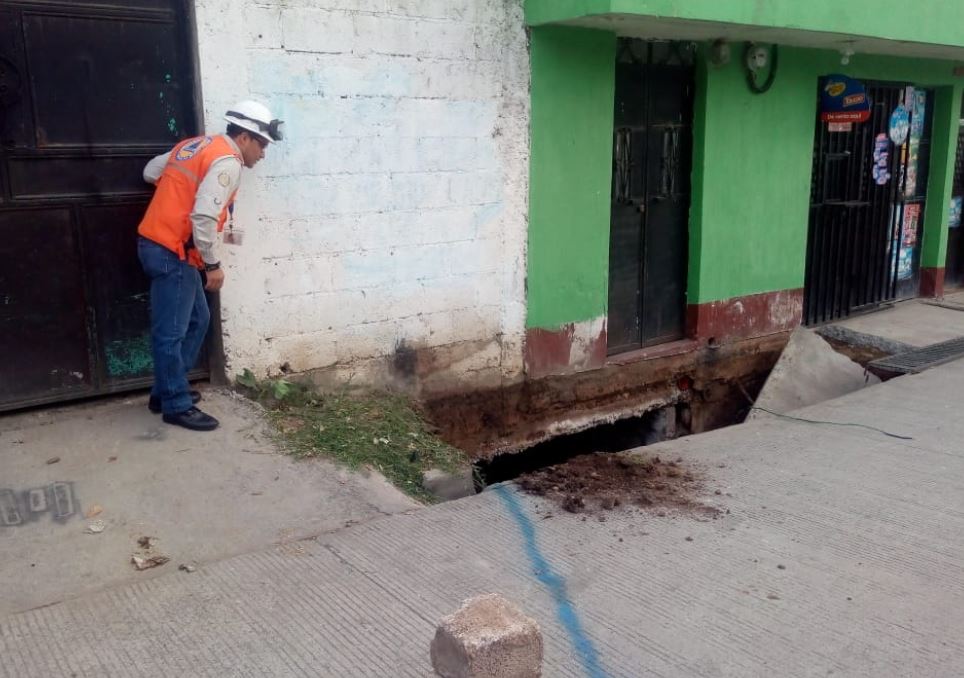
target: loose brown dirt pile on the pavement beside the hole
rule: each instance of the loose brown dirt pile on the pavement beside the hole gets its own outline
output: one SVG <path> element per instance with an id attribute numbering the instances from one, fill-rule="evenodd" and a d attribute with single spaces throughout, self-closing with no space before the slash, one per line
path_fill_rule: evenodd
<path id="1" fill-rule="evenodd" d="M 598 513 L 638 506 L 716 513 L 698 500 L 702 473 L 682 459 L 656 455 L 586 454 L 519 476 L 523 491 L 545 497 L 570 513 Z"/>

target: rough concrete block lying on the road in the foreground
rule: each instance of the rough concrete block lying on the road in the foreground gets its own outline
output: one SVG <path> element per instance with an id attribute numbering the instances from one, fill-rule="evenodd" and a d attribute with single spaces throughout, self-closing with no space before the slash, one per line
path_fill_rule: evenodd
<path id="1" fill-rule="evenodd" d="M 489 593 L 439 622 L 431 656 L 443 678 L 538 678 L 542 632 L 518 607 Z"/>

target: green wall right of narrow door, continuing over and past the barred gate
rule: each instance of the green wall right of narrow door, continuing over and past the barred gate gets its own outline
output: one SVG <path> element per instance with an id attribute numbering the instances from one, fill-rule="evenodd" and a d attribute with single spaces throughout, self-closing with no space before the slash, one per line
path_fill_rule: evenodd
<path id="1" fill-rule="evenodd" d="M 753 94 L 738 59 L 700 66 L 688 302 L 803 287 L 820 76 L 935 89 L 921 265 L 943 266 L 959 114 L 953 64 L 781 48 L 773 88 Z"/>

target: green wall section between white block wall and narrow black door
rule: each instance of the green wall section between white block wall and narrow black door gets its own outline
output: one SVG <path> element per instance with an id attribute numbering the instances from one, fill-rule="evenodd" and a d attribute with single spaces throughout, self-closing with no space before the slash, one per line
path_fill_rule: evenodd
<path id="1" fill-rule="evenodd" d="M 616 37 L 533 29 L 529 327 L 606 313 Z"/>

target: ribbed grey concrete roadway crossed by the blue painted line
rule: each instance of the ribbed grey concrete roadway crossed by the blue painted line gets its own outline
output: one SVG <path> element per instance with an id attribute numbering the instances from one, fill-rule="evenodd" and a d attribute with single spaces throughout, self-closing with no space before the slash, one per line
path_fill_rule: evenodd
<path id="1" fill-rule="evenodd" d="M 962 385 L 795 413 L 911 440 L 766 419 L 647 448 L 705 470 L 718 520 L 500 486 L 9 616 L 0 676 L 429 676 L 438 618 L 488 591 L 539 620 L 549 677 L 959 676 Z"/>

